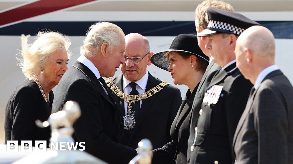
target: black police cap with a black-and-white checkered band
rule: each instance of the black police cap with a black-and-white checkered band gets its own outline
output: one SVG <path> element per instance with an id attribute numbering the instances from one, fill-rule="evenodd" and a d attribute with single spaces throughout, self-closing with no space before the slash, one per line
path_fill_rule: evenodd
<path id="1" fill-rule="evenodd" d="M 240 35 L 244 30 L 254 25 L 260 25 L 245 16 L 232 11 L 219 8 L 207 8 L 209 24 L 207 29 L 198 33 L 197 36 L 210 36 L 219 33 Z"/>

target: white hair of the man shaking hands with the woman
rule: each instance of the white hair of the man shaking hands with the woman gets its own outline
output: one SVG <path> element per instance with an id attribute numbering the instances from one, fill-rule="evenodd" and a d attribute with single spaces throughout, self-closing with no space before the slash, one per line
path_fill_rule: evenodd
<path id="1" fill-rule="evenodd" d="M 120 27 L 109 22 L 98 22 L 91 25 L 80 47 L 81 55 L 94 57 L 103 43 L 109 44 L 109 52 L 112 53 L 115 46 L 120 44 L 120 38 L 125 34 Z"/>

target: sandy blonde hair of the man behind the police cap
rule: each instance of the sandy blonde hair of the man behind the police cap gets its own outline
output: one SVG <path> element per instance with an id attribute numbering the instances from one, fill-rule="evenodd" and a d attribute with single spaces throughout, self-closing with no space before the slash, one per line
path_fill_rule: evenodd
<path id="1" fill-rule="evenodd" d="M 233 6 L 231 6 L 230 4 L 227 4 L 224 1 L 217 1 L 217 0 L 203 1 L 195 9 L 195 27 L 197 32 L 199 32 L 200 26 L 206 29 L 207 25 L 209 24 L 209 20 L 207 18 L 208 7 L 219 8 L 219 9 L 227 10 L 227 11 L 234 11 Z"/>

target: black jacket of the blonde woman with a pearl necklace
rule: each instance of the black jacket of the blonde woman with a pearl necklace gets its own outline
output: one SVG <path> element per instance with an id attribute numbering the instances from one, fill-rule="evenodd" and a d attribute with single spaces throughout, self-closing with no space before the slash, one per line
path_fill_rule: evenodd
<path id="1" fill-rule="evenodd" d="M 19 84 L 10 96 L 5 110 L 5 144 L 7 140 L 46 140 L 47 146 L 51 136 L 50 127 L 39 128 L 35 121 L 46 121 L 51 114 L 54 99 L 52 90 L 49 93 L 50 103 L 44 97 L 35 81 L 26 79 Z"/>

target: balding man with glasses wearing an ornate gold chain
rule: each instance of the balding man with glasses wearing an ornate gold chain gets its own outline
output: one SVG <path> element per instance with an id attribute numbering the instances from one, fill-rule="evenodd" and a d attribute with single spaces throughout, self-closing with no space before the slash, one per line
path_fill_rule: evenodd
<path id="1" fill-rule="evenodd" d="M 134 149 L 144 138 L 150 139 L 154 149 L 171 142 L 171 124 L 182 102 L 180 90 L 171 85 L 160 86 L 162 89 L 157 89 L 156 93 L 151 91 L 162 83 L 147 71 L 153 54 L 146 37 L 137 33 L 126 35 L 122 74 L 111 79 L 125 95 L 139 95 L 139 101 L 129 105 L 126 99 L 123 100 L 116 94 L 119 92 L 113 93 L 116 94 L 114 99 L 122 114 L 125 128 L 121 143 Z M 146 98 L 144 93 L 147 93 Z"/>

